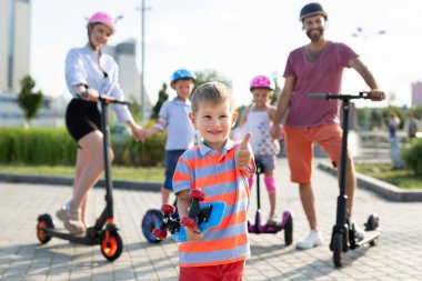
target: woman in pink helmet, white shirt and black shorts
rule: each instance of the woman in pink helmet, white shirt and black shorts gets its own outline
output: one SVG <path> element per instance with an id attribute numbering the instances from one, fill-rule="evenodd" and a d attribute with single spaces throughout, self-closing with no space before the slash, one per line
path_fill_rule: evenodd
<path id="1" fill-rule="evenodd" d="M 66 111 L 66 124 L 78 142 L 78 154 L 73 197 L 57 212 L 57 217 L 72 234 L 81 234 L 86 230 L 88 191 L 103 171 L 100 112 L 92 101 L 98 100 L 99 93 L 123 99 L 119 67 L 112 57 L 101 51 L 115 32 L 114 23 L 105 12 L 92 14 L 87 26 L 88 43 L 71 49 L 66 58 L 66 81 L 73 98 Z M 129 126 L 133 138 L 144 139 L 143 129 L 133 121 L 127 106 L 114 106 L 114 112 L 120 122 Z"/>

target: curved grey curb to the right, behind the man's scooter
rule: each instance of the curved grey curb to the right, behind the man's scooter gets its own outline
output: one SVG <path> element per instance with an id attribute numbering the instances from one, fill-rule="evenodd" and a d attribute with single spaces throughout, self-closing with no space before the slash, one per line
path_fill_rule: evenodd
<path id="1" fill-rule="evenodd" d="M 319 162 L 318 168 L 332 175 L 336 175 L 336 169 Z M 356 172 L 358 188 L 369 190 L 375 194 L 394 202 L 422 202 L 422 190 L 403 190 L 394 184 L 368 177 Z"/>

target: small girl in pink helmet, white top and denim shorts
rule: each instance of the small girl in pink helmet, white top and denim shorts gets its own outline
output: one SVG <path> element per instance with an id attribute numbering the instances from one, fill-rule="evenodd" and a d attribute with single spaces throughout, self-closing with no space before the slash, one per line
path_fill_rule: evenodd
<path id="1" fill-rule="evenodd" d="M 275 113 L 275 107 L 270 104 L 271 96 L 274 92 L 273 80 L 267 76 L 257 76 L 252 79 L 250 90 L 253 97 L 253 103 L 245 109 L 240 121 L 240 137 L 242 132 L 252 132 L 250 141 L 255 162 L 260 163 L 264 173 L 264 182 L 270 198 L 270 214 L 267 221 L 268 225 L 277 223 L 277 188 L 274 183 L 273 171 L 275 168 L 275 155 L 280 152 L 280 144 L 270 134 L 272 118 Z M 253 177 L 249 178 L 249 188 L 253 184 Z"/>

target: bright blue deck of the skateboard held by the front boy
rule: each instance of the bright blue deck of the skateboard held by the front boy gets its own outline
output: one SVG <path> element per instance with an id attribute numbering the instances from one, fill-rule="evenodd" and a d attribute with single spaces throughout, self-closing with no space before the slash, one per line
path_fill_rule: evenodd
<path id="1" fill-rule="evenodd" d="M 225 202 L 219 201 L 219 202 L 210 202 L 210 203 L 200 204 L 201 210 L 208 208 L 209 205 L 212 205 L 212 210 L 211 210 L 211 214 L 210 214 L 209 220 L 203 221 L 198 225 L 201 229 L 201 232 L 207 231 L 209 228 L 220 225 L 220 223 L 224 217 Z M 198 221 L 198 219 L 197 219 L 197 221 Z M 180 228 L 179 232 L 174 232 L 173 234 L 171 234 L 171 238 L 175 242 L 187 242 L 188 241 L 187 232 L 185 232 L 183 227 Z"/>

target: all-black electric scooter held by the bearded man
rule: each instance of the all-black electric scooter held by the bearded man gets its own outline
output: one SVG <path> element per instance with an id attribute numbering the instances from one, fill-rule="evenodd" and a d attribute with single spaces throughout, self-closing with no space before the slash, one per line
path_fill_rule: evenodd
<path id="1" fill-rule="evenodd" d="M 345 171 L 346 169 L 346 154 L 348 154 L 348 133 L 349 133 L 349 107 L 350 101 L 353 99 L 371 99 L 371 93 L 362 91 L 359 94 L 325 94 L 325 93 L 311 93 L 309 98 L 312 99 L 326 99 L 326 100 L 341 100 L 343 111 L 343 139 L 341 150 L 341 171 L 340 171 L 340 195 L 336 203 L 336 219 L 332 230 L 330 250 L 333 252 L 334 267 L 340 268 L 343 265 L 343 253 L 349 250 L 354 250 L 359 247 L 370 244 L 371 247 L 378 243 L 381 234 L 380 218 L 376 213 L 372 213 L 364 224 L 365 238 L 359 240 L 355 235 L 354 224 L 351 224 L 349 214 L 346 212 L 348 195 L 345 194 Z"/>

